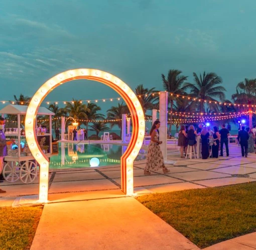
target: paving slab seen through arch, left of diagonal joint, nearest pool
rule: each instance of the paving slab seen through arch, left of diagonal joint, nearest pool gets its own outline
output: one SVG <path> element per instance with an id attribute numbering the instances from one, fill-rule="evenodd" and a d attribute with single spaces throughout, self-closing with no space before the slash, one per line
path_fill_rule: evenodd
<path id="1" fill-rule="evenodd" d="M 104 179 L 100 173 L 93 172 L 76 172 L 76 173 L 59 173 L 55 174 L 53 182 L 55 181 L 67 181 L 67 180 L 86 180 L 86 179 Z"/>

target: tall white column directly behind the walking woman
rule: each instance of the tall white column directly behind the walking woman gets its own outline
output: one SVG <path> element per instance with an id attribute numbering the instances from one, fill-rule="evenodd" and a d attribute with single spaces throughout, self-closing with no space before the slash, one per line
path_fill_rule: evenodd
<path id="1" fill-rule="evenodd" d="M 160 145 L 164 160 L 167 160 L 167 94 L 168 92 L 161 91 L 159 95 L 160 99 L 160 115 L 159 120 L 161 122 L 159 133 L 160 133 L 160 140 L 163 141 L 163 143 Z"/>

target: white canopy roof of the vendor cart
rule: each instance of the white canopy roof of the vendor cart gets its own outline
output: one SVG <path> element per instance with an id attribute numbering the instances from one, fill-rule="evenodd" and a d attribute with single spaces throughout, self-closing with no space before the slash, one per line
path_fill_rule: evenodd
<path id="1" fill-rule="evenodd" d="M 9 104 L 0 110 L 3 114 L 26 114 L 28 106 L 27 105 L 14 105 Z M 39 115 L 54 115 L 55 113 L 46 107 L 39 107 L 37 114 Z"/>

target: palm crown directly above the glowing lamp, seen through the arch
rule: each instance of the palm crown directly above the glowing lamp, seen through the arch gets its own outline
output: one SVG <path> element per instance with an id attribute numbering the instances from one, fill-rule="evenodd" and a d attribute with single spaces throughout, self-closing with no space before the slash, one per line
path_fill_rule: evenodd
<path id="1" fill-rule="evenodd" d="M 69 113 L 69 116 L 74 119 L 87 119 L 86 112 L 89 111 L 89 108 L 86 104 L 82 104 L 81 100 L 76 100 L 73 98 L 72 102 L 67 102 L 65 110 Z"/>

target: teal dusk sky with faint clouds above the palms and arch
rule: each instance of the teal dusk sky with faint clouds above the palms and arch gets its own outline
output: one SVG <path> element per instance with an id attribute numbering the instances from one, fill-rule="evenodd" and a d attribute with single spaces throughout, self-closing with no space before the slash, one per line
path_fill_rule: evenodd
<path id="1" fill-rule="evenodd" d="M 109 71 L 133 89 L 160 90 L 161 73 L 171 68 L 191 82 L 194 71 L 214 71 L 231 94 L 239 81 L 256 77 L 255 10 L 254 0 L 4 1 L 0 100 L 20 91 L 32 95 L 48 78 L 78 67 Z M 50 97 L 114 97 L 96 85 L 70 83 Z"/>

